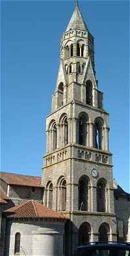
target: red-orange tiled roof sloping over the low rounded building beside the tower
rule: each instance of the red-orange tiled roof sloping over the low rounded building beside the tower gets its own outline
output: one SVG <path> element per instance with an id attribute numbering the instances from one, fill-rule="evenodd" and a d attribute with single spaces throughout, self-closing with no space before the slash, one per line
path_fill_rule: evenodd
<path id="1" fill-rule="evenodd" d="M 34 200 L 26 201 L 20 205 L 13 206 L 5 210 L 9 218 L 43 218 L 43 219 L 59 219 L 66 220 L 66 217 L 45 207 L 42 203 Z"/>

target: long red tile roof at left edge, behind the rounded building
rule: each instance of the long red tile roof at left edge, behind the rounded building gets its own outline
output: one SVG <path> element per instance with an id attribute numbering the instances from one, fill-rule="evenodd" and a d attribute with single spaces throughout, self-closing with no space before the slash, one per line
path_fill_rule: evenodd
<path id="1" fill-rule="evenodd" d="M 10 185 L 42 187 L 41 177 L 19 175 L 16 173 L 5 173 L 1 171 L 0 178 Z"/>

